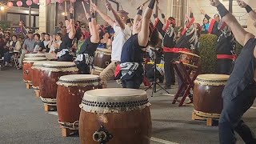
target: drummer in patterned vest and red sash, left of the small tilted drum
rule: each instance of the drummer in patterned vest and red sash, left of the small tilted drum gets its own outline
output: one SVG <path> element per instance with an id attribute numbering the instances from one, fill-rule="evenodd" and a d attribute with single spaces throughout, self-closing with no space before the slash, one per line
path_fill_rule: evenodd
<path id="1" fill-rule="evenodd" d="M 158 9 L 160 10 L 160 9 Z M 162 18 L 165 19 L 165 15 L 161 14 Z M 174 48 L 175 41 L 176 41 L 176 33 L 175 33 L 175 26 L 176 26 L 176 20 L 173 17 L 170 17 L 166 20 L 166 24 L 163 24 L 159 18 L 157 18 L 157 15 L 154 14 L 155 18 L 155 24 L 154 26 L 157 26 L 157 29 L 159 33 L 162 35 L 163 38 L 163 51 L 164 51 L 164 70 L 165 70 L 165 78 L 166 78 L 166 86 L 165 89 L 170 89 L 170 85 L 174 85 L 175 83 L 175 75 L 174 75 L 174 65 L 172 64 L 173 59 L 173 53 L 170 51 L 171 48 Z"/>

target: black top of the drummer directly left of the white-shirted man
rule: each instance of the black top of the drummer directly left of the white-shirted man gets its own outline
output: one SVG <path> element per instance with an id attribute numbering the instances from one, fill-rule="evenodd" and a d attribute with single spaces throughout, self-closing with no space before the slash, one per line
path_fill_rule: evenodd
<path id="1" fill-rule="evenodd" d="M 98 43 L 91 42 L 90 37 L 82 43 L 81 49 L 78 54 L 89 54 L 90 56 L 94 56 L 94 52 L 97 50 Z"/>

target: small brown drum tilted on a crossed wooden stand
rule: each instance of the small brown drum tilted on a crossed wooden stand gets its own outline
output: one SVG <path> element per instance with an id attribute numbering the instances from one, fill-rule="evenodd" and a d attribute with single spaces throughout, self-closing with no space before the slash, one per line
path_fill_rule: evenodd
<path id="1" fill-rule="evenodd" d="M 197 54 L 192 54 L 188 52 L 180 52 L 179 62 L 183 62 L 184 65 L 193 68 L 198 68 L 200 57 Z"/>

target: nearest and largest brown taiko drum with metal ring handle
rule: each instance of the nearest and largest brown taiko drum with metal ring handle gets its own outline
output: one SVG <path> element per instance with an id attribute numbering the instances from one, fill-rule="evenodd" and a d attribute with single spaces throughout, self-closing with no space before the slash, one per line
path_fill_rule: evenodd
<path id="1" fill-rule="evenodd" d="M 134 89 L 86 91 L 79 137 L 82 144 L 150 144 L 152 123 L 146 92 Z"/>

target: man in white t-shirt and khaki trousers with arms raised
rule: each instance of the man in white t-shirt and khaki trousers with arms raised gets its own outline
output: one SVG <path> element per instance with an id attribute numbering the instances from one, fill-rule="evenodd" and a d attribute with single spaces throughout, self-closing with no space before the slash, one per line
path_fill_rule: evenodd
<path id="1" fill-rule="evenodd" d="M 130 38 L 131 30 L 130 27 L 126 25 L 126 21 L 128 19 L 128 14 L 126 11 L 121 10 L 116 12 L 111 6 L 110 2 L 106 2 L 107 10 L 111 10 L 114 14 L 115 21 L 104 14 L 101 10 L 99 10 L 98 6 L 94 6 L 94 10 L 98 12 L 98 14 L 110 24 L 114 28 L 114 41 L 112 42 L 112 53 L 111 53 L 111 63 L 102 71 L 100 77 L 102 79 L 103 88 L 107 87 L 106 80 L 108 78 L 114 77 L 114 72 L 121 62 L 121 52 L 122 46 Z"/>

